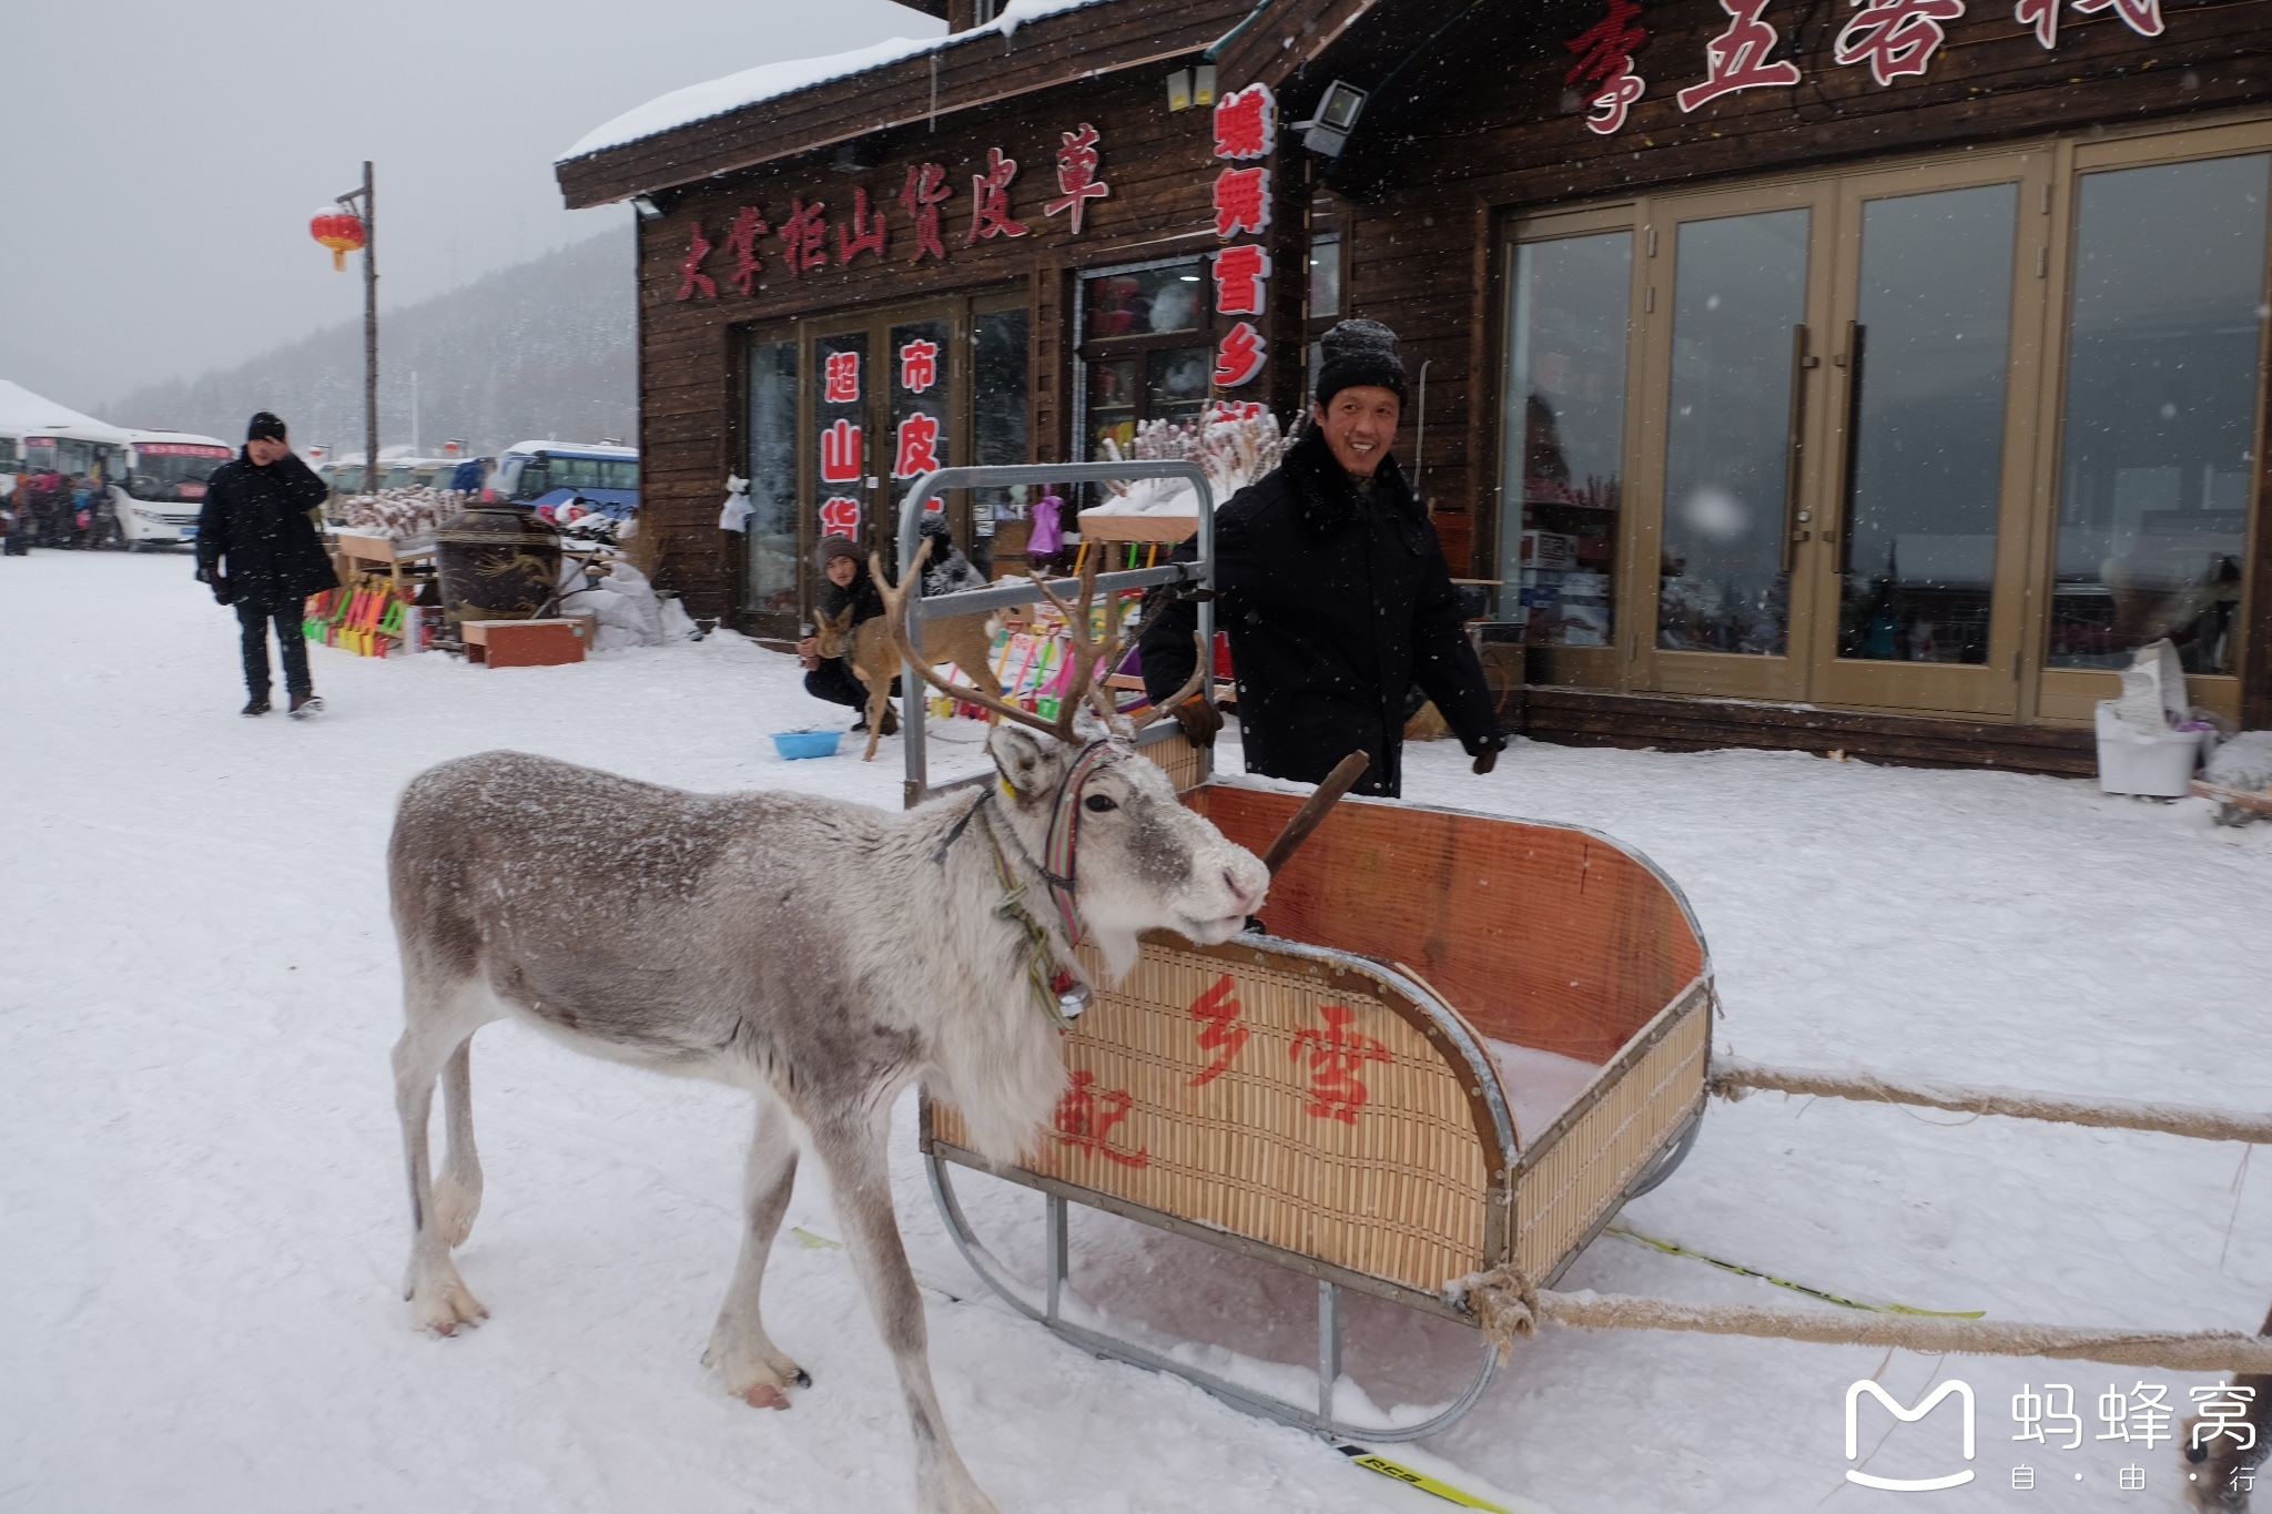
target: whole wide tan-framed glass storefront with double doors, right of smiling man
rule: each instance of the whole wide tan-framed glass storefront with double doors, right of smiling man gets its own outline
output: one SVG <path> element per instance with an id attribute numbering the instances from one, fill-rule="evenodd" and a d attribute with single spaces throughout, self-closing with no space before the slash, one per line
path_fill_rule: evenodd
<path id="1" fill-rule="evenodd" d="M 1515 220 L 1534 676 L 2083 722 L 2170 638 L 2238 715 L 2267 216 L 2272 123 Z"/>

